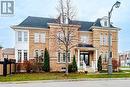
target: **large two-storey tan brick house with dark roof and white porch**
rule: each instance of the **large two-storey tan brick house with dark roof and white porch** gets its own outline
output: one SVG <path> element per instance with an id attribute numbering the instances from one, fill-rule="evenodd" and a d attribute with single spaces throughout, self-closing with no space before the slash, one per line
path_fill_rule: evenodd
<path id="1" fill-rule="evenodd" d="M 65 67 L 65 54 L 59 52 L 56 35 L 61 29 L 57 19 L 42 17 L 27 17 L 19 25 L 11 28 L 15 31 L 15 58 L 17 63 L 35 59 L 43 55 L 47 48 L 50 54 L 51 71 L 62 71 Z M 97 60 L 102 55 L 103 67 L 108 62 L 108 30 L 111 29 L 112 58 L 118 60 L 119 28 L 108 27 L 107 18 L 99 18 L 95 22 L 72 21 L 77 44 L 70 50 L 69 62 L 76 56 L 78 71 L 97 71 Z M 64 25 L 66 26 L 66 25 Z M 70 26 L 71 28 L 71 26 Z"/>

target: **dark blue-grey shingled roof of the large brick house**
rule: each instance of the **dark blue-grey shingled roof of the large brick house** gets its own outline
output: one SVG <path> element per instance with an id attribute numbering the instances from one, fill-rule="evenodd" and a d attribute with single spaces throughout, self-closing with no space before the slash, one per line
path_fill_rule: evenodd
<path id="1" fill-rule="evenodd" d="M 101 19 L 97 19 L 95 22 L 88 21 L 71 21 L 71 24 L 79 24 L 81 25 L 80 31 L 90 31 L 91 26 L 102 27 L 100 23 Z M 28 16 L 22 23 L 20 23 L 19 27 L 37 27 L 37 28 L 48 28 L 48 23 L 56 23 L 57 19 L 54 18 L 44 18 L 44 17 L 32 17 Z M 113 27 L 113 26 L 111 26 Z"/>

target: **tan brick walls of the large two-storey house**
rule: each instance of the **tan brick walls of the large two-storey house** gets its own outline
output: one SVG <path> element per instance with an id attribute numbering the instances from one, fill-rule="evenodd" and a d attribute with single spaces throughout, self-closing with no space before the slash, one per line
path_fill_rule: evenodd
<path id="1" fill-rule="evenodd" d="M 75 34 L 75 43 L 73 44 L 79 44 L 81 43 L 80 38 L 81 36 L 88 36 L 89 45 L 92 45 L 94 47 L 94 50 L 91 50 L 89 48 L 79 48 L 80 52 L 88 52 L 89 53 L 89 66 L 92 66 L 92 61 L 96 61 L 96 50 L 98 50 L 98 56 L 102 54 L 103 52 L 108 52 L 108 44 L 107 45 L 100 45 L 100 34 L 106 34 L 108 38 L 108 29 L 93 29 L 92 31 L 79 31 L 79 26 L 76 26 L 74 28 L 74 34 Z M 58 44 L 56 40 L 56 34 L 60 30 L 60 27 L 56 24 L 50 24 L 49 29 L 29 29 L 29 56 L 30 58 L 34 58 L 34 51 L 36 49 L 45 49 L 47 48 L 49 50 L 50 54 L 50 67 L 51 71 L 61 71 L 63 67 L 65 67 L 65 63 L 58 63 Z M 46 33 L 46 42 L 45 43 L 35 43 L 34 42 L 34 33 Z M 112 58 L 118 59 L 118 31 L 117 30 L 111 30 L 112 33 Z M 71 49 L 71 61 L 73 55 L 76 55 L 76 60 L 78 61 L 78 51 L 76 46 Z M 103 67 L 107 67 L 107 62 L 103 63 Z"/>

